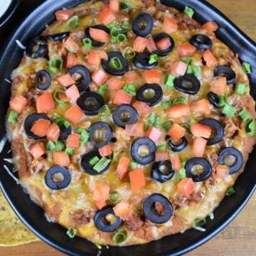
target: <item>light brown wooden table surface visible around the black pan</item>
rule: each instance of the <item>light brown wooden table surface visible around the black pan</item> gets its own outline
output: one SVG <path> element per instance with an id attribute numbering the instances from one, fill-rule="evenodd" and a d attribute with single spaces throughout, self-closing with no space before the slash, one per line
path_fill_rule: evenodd
<path id="1" fill-rule="evenodd" d="M 209 2 L 228 16 L 250 38 L 256 41 L 256 0 L 209 0 Z M 245 208 L 228 227 L 216 235 L 215 238 L 206 242 L 206 244 L 192 252 L 188 252 L 187 255 L 256 255 L 255 206 L 256 194 L 250 198 Z M 16 247 L 1 247 L 0 255 L 60 256 L 63 253 L 40 241 Z"/>

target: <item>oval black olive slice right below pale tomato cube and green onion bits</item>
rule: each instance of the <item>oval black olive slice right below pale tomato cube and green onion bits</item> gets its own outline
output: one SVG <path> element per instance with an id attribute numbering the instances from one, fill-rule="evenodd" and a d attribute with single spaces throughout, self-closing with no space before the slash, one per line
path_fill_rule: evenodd
<path id="1" fill-rule="evenodd" d="M 174 79 L 174 88 L 188 95 L 195 95 L 199 92 L 201 84 L 192 74 L 186 74 Z"/>

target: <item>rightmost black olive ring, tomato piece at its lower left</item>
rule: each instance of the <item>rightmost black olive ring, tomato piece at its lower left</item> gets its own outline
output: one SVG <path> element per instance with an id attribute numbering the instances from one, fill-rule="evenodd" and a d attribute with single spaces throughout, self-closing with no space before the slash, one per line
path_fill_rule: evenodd
<path id="1" fill-rule="evenodd" d="M 242 153 L 232 146 L 221 150 L 218 156 L 218 164 L 228 166 L 229 174 L 238 172 L 242 167 L 243 161 Z"/>

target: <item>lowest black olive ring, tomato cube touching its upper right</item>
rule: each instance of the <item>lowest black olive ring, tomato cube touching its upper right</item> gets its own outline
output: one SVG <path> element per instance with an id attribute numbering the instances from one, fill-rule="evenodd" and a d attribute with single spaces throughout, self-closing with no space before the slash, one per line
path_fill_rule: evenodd
<path id="1" fill-rule="evenodd" d="M 114 214 L 112 206 L 105 206 L 101 210 L 97 210 L 93 220 L 97 229 L 102 232 L 113 232 L 122 224 L 122 220 Z"/>

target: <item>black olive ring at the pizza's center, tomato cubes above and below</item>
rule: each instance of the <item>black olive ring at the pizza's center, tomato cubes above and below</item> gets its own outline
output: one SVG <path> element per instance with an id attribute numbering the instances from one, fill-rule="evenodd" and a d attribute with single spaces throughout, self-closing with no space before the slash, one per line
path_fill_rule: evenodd
<path id="1" fill-rule="evenodd" d="M 114 110 L 112 118 L 114 124 L 119 127 L 125 127 L 127 124 L 134 124 L 137 122 L 138 112 L 132 105 L 122 104 Z"/>

